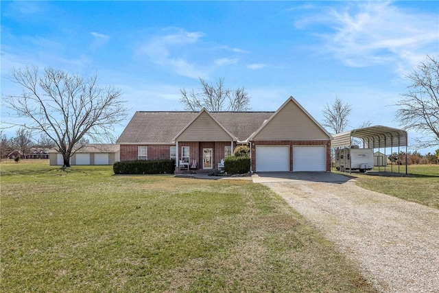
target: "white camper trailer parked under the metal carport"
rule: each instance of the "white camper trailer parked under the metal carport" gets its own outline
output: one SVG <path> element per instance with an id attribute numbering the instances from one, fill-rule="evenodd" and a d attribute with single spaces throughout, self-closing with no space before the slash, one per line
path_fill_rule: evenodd
<path id="1" fill-rule="evenodd" d="M 374 165 L 373 149 L 358 148 L 353 145 L 351 148 L 335 150 L 335 169 L 340 172 L 359 170 L 366 172 Z"/>

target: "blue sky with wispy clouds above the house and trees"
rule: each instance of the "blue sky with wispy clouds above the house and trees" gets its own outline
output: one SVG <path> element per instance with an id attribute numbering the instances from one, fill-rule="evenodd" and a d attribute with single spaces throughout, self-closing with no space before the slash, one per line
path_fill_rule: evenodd
<path id="1" fill-rule="evenodd" d="M 399 128 L 404 75 L 439 53 L 439 1 L 1 1 L 1 92 L 12 67 L 93 75 L 136 110 L 183 110 L 198 78 L 244 86 L 252 110 L 292 95 L 322 123 L 325 104 Z M 121 132 L 130 117 L 117 127 Z M 13 121 L 1 108 L 1 121 Z M 409 132 L 416 137 L 416 132 Z M 420 150 L 421 153 L 432 149 Z"/>

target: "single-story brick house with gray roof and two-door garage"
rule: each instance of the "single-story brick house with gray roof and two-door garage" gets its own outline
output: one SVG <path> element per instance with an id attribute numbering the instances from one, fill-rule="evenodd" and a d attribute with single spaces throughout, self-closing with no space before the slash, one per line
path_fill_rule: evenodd
<path id="1" fill-rule="evenodd" d="M 331 134 L 293 97 L 276 112 L 138 111 L 117 140 L 121 161 L 175 159 L 176 172 L 218 169 L 250 146 L 252 172 L 330 171 Z"/>

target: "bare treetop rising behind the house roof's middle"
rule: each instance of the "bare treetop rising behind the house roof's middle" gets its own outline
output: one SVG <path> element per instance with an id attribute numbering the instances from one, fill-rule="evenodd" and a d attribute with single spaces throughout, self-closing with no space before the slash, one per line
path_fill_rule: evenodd
<path id="1" fill-rule="evenodd" d="M 224 78 L 219 78 L 216 84 L 209 84 L 200 78 L 202 88 L 195 92 L 180 89 L 180 102 L 186 110 L 199 111 L 202 108 L 217 111 L 245 111 L 250 109 L 250 97 L 244 87 L 230 90 L 224 86 Z"/>

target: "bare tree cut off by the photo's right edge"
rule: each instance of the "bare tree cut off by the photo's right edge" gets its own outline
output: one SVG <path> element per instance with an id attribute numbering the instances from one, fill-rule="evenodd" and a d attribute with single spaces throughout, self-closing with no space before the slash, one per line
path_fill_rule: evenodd
<path id="1" fill-rule="evenodd" d="M 424 134 L 416 141 L 419 148 L 439 145 L 439 60 L 427 56 L 427 61 L 420 62 L 406 78 L 412 84 L 396 103 L 396 118 L 405 129 Z"/>

